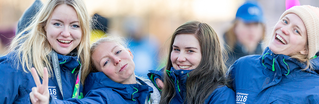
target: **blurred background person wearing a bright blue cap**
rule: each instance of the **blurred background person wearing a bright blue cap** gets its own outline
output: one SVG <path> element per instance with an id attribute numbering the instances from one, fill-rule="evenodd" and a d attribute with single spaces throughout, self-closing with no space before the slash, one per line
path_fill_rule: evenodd
<path id="1" fill-rule="evenodd" d="M 265 36 L 263 11 L 256 1 L 247 1 L 238 8 L 233 26 L 224 34 L 229 46 L 226 66 L 231 66 L 240 57 L 262 54 Z"/>

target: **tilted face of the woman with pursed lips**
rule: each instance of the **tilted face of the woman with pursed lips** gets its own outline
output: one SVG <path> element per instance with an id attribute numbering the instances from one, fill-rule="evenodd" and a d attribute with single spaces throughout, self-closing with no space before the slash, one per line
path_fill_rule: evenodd
<path id="1" fill-rule="evenodd" d="M 135 82 L 133 55 L 122 45 L 103 42 L 92 53 L 92 58 L 96 68 L 111 80 L 122 84 Z"/>

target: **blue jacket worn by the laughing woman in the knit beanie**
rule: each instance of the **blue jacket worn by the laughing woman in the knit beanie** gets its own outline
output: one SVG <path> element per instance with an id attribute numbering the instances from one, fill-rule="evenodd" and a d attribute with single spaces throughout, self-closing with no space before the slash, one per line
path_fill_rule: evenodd
<path id="1" fill-rule="evenodd" d="M 240 104 L 318 104 L 319 58 L 314 70 L 267 47 L 263 55 L 238 59 L 228 70 L 228 77 Z"/>

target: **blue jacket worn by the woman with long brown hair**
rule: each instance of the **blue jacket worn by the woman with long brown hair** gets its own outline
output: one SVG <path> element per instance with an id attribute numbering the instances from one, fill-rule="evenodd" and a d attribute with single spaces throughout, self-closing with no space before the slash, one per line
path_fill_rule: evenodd
<path id="1" fill-rule="evenodd" d="M 170 102 L 170 104 L 183 104 L 186 95 L 186 80 L 188 73 L 192 70 L 175 70 L 173 67 L 169 73 L 172 80 L 175 83 L 175 93 L 176 95 Z M 148 77 L 154 82 L 154 76 L 161 79 L 162 72 L 150 70 L 151 73 L 148 74 Z M 153 77 L 153 78 L 152 78 Z M 210 96 L 205 100 L 205 104 L 235 104 L 235 94 L 234 91 L 227 86 L 219 86 L 216 88 Z"/>

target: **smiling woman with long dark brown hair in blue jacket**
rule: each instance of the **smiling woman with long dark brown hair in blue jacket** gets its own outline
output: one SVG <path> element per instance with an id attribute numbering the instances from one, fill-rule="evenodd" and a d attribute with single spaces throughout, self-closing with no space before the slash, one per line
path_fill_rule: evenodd
<path id="1" fill-rule="evenodd" d="M 235 103 L 234 91 L 226 86 L 219 38 L 211 26 L 198 21 L 182 24 L 172 35 L 168 54 L 164 72 L 148 74 L 153 82 L 163 74 L 161 104 Z"/>

